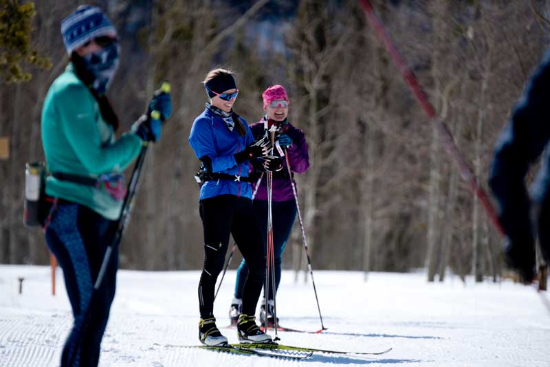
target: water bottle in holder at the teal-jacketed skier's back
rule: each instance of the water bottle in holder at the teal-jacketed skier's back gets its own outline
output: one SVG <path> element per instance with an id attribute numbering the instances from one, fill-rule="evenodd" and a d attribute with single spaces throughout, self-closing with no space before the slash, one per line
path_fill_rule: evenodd
<path id="1" fill-rule="evenodd" d="M 25 168 L 25 210 L 23 223 L 29 227 L 42 225 L 41 198 L 45 181 L 46 168 L 44 162 L 32 162 Z"/>

